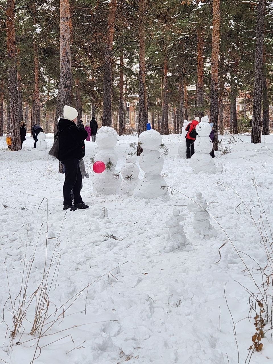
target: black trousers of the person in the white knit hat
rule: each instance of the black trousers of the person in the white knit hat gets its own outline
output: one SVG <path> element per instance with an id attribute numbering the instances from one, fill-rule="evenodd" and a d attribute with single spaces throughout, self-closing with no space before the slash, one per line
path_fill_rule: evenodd
<path id="1" fill-rule="evenodd" d="M 72 205 L 71 191 L 74 195 L 74 203 L 82 203 L 80 189 L 82 186 L 82 174 L 80 173 L 79 158 L 62 161 L 66 178 L 63 185 L 63 204 Z"/>

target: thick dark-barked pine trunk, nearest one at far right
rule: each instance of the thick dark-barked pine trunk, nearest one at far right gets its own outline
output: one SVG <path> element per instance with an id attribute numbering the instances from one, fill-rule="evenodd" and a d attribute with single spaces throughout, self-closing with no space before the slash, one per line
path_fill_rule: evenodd
<path id="1" fill-rule="evenodd" d="M 254 100 L 251 142 L 261 143 L 262 61 L 264 45 L 265 0 L 259 0 L 257 7 L 257 30 L 254 73 Z"/>

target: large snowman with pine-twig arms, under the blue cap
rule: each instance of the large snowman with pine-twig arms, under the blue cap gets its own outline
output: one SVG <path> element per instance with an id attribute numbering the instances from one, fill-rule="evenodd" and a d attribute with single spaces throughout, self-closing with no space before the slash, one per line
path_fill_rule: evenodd
<path id="1" fill-rule="evenodd" d="M 166 194 L 161 186 L 166 181 L 160 173 L 163 169 L 164 159 L 160 153 L 162 137 L 154 129 L 143 131 L 138 138 L 143 152 L 139 157 L 139 167 L 145 172 L 144 178 L 138 183 L 134 196 L 139 198 L 155 198 Z"/>

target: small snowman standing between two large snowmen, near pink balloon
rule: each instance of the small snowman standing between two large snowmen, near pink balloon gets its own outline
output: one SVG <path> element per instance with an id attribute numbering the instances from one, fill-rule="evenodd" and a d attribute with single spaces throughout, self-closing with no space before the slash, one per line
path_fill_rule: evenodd
<path id="1" fill-rule="evenodd" d="M 120 194 L 132 196 L 139 182 L 139 168 L 135 164 L 137 162 L 136 155 L 129 155 L 126 158 L 126 163 L 121 169 L 123 181 L 120 184 Z"/>

